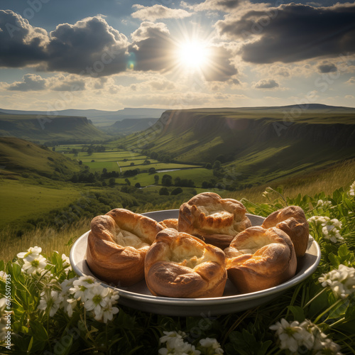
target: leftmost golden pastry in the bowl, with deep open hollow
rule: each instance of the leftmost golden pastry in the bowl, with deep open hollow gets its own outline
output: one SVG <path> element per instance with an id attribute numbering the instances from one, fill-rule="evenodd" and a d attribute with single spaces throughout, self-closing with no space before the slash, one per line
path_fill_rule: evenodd
<path id="1" fill-rule="evenodd" d="M 87 264 L 100 280 L 129 286 L 144 278 L 144 258 L 156 234 L 155 220 L 128 209 L 112 209 L 92 219 Z"/>

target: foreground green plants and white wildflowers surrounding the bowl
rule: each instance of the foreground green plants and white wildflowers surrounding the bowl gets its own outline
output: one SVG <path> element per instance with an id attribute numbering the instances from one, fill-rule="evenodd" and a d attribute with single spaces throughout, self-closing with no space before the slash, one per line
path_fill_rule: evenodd
<path id="1" fill-rule="evenodd" d="M 307 280 L 243 312 L 141 312 L 121 305 L 115 288 L 76 275 L 65 254 L 46 255 L 40 246 L 18 251 L 12 261 L 0 261 L 0 353 L 355 354 L 354 184 L 332 195 L 295 198 L 281 187 L 268 188 L 264 203 L 242 200 L 263 217 L 287 205 L 302 207 L 322 252 Z M 8 331 L 11 349 L 4 340 Z"/>

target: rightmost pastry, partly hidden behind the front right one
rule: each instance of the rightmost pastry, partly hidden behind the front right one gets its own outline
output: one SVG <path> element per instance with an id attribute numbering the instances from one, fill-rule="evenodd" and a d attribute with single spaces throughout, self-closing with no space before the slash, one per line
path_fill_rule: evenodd
<path id="1" fill-rule="evenodd" d="M 288 206 L 278 209 L 264 220 L 263 228 L 275 226 L 285 231 L 295 246 L 297 257 L 304 256 L 307 251 L 308 239 L 310 236 L 309 225 L 305 217 L 305 212 L 298 206 Z"/>

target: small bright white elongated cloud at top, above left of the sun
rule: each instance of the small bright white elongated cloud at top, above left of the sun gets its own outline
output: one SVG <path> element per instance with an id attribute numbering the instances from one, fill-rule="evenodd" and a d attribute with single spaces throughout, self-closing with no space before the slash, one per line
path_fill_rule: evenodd
<path id="1" fill-rule="evenodd" d="M 153 6 L 143 6 L 134 4 L 133 8 L 137 9 L 131 16 L 146 21 L 155 21 L 159 18 L 185 18 L 192 16 L 192 13 L 182 9 L 169 9 L 166 6 L 155 4 Z"/>

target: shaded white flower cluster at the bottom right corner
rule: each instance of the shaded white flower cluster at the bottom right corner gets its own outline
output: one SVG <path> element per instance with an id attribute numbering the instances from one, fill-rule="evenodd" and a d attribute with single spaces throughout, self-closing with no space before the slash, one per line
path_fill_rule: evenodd
<path id="1" fill-rule="evenodd" d="M 280 341 L 280 349 L 288 349 L 291 353 L 300 353 L 302 349 L 312 351 L 312 354 L 339 355 L 340 346 L 332 342 L 317 325 L 305 320 L 302 323 L 294 320 L 289 323 L 284 318 L 271 325 Z"/>

